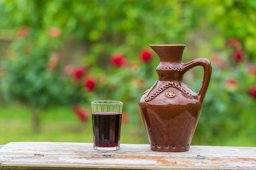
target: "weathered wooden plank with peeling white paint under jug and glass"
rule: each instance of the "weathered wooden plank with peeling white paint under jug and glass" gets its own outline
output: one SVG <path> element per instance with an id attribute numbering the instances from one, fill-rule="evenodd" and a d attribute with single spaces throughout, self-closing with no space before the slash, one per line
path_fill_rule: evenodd
<path id="1" fill-rule="evenodd" d="M 155 152 L 148 144 L 97 151 L 90 143 L 11 142 L 0 146 L 0 170 L 256 170 L 256 147 L 191 146 Z"/>

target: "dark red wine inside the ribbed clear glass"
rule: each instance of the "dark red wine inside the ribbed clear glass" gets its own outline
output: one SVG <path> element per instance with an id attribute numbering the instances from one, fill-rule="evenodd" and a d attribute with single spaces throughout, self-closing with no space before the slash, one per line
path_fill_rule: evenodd
<path id="1" fill-rule="evenodd" d="M 121 114 L 113 112 L 92 114 L 93 140 L 96 147 L 119 146 L 121 117 Z"/>

